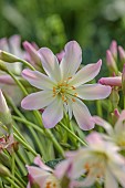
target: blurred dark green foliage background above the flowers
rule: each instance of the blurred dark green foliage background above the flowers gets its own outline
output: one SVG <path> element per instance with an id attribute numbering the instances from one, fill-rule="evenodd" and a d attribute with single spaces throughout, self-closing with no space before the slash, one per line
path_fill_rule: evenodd
<path id="1" fill-rule="evenodd" d="M 12 34 L 54 53 L 76 40 L 94 62 L 113 39 L 125 46 L 125 0 L 0 0 L 0 38 Z"/>

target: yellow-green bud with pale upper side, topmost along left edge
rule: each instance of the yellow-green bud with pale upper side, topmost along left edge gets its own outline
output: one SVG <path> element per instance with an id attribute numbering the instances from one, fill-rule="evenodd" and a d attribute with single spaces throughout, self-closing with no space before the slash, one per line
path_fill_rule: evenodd
<path id="1" fill-rule="evenodd" d="M 8 62 L 8 63 L 19 62 L 19 58 L 6 51 L 0 51 L 0 60 Z"/>

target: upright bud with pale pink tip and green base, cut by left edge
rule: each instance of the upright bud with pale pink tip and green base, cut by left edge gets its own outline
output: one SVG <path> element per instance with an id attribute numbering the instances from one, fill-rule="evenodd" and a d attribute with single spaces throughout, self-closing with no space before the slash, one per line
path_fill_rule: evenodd
<path id="1" fill-rule="evenodd" d="M 4 124 L 6 126 L 9 126 L 12 123 L 12 117 L 1 90 L 0 90 L 0 122 L 2 122 L 2 124 Z"/>

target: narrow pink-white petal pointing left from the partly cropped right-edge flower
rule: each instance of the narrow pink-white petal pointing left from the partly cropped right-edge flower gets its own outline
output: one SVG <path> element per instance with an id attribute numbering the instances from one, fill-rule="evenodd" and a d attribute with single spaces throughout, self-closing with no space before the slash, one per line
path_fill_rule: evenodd
<path id="1" fill-rule="evenodd" d="M 114 130 L 112 128 L 112 125 L 101 118 L 100 116 L 93 116 L 93 122 L 100 126 L 102 126 L 110 135 L 113 135 Z"/>

